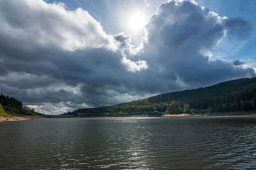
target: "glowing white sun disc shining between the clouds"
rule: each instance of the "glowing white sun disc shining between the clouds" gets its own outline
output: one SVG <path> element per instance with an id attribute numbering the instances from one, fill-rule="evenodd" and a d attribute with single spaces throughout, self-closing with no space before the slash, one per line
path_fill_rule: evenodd
<path id="1" fill-rule="evenodd" d="M 129 29 L 133 32 L 143 30 L 144 26 L 146 25 L 146 17 L 142 12 L 133 12 L 127 24 L 129 26 Z"/>

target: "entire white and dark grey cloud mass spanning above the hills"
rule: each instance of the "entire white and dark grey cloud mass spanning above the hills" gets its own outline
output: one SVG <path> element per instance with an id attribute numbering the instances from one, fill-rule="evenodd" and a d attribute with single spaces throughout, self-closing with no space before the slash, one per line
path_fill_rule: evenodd
<path id="1" fill-rule="evenodd" d="M 137 48 L 130 35 L 107 34 L 90 13 L 64 4 L 0 1 L 0 24 L 0 90 L 42 113 L 255 76 L 250 67 L 210 59 L 237 25 L 194 1 L 161 4 Z"/>

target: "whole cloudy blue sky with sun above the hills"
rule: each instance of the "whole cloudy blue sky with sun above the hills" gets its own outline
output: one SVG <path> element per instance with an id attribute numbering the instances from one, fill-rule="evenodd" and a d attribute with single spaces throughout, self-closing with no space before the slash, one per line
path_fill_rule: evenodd
<path id="1" fill-rule="evenodd" d="M 0 1 L 0 91 L 45 114 L 255 77 L 254 0 Z"/>

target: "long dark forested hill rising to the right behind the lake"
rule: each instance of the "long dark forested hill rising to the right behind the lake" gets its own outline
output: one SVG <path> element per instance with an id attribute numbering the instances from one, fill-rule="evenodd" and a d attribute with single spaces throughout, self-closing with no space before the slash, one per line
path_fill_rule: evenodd
<path id="1" fill-rule="evenodd" d="M 162 115 L 256 110 L 256 77 L 225 81 L 205 88 L 160 94 L 143 100 L 72 113 L 85 116 Z"/>

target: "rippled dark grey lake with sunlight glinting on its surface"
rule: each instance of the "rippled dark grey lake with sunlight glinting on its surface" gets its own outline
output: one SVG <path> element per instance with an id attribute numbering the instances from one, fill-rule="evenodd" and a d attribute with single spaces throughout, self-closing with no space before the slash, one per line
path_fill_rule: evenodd
<path id="1" fill-rule="evenodd" d="M 256 169 L 256 116 L 0 123 L 0 169 Z"/>

